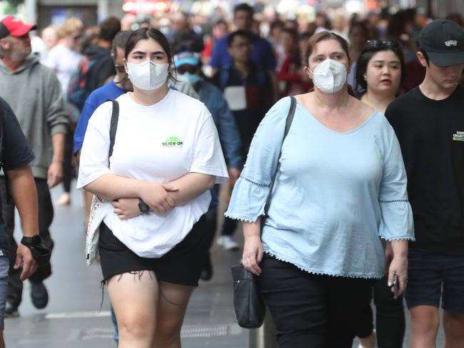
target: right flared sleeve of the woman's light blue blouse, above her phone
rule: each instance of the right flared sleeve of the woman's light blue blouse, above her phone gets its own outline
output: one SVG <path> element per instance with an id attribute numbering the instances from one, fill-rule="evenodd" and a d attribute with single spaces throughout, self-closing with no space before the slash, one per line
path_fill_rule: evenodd
<path id="1" fill-rule="evenodd" d="M 413 211 L 408 200 L 408 180 L 398 139 L 388 125 L 379 203 L 378 235 L 384 240 L 415 240 Z"/>

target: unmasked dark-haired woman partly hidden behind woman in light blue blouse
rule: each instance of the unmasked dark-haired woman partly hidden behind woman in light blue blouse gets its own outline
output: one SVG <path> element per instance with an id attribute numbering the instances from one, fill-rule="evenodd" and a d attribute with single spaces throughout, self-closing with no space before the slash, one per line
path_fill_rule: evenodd
<path id="1" fill-rule="evenodd" d="M 403 51 L 398 41 L 368 41 L 356 64 L 355 90 L 360 91 L 361 101 L 385 113 L 388 104 L 398 96 L 405 73 Z M 390 242 L 385 242 L 384 247 L 386 271 L 393 255 Z M 379 348 L 401 348 L 405 333 L 403 297 L 395 300 L 388 291 L 387 281 L 385 275 L 373 286 L 377 344 Z M 365 307 L 357 322 L 361 347 L 375 347 L 370 305 Z"/>

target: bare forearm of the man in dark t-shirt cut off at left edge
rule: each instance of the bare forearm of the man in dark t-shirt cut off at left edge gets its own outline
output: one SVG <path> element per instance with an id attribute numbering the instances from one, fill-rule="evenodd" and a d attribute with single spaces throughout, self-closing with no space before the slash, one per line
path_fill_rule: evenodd
<path id="1" fill-rule="evenodd" d="M 11 195 L 23 226 L 23 235 L 32 236 L 39 233 L 39 218 L 37 208 L 37 188 L 32 176 L 30 165 L 6 170 L 9 179 Z"/>

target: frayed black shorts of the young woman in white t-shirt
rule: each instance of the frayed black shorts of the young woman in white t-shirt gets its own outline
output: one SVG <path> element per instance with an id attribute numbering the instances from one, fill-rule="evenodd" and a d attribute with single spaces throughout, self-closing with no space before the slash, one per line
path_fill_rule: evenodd
<path id="1" fill-rule="evenodd" d="M 155 273 L 158 282 L 198 286 L 209 246 L 205 222 L 203 215 L 178 245 L 159 258 L 136 255 L 102 222 L 99 254 L 104 282 L 115 275 L 148 270 Z"/>

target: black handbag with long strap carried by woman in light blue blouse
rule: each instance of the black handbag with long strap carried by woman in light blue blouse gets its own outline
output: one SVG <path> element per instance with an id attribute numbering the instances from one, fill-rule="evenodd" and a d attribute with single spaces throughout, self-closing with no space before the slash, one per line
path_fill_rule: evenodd
<path id="1" fill-rule="evenodd" d="M 285 132 L 283 133 L 282 143 L 290 130 L 293 116 L 295 116 L 295 109 L 296 98 L 291 97 L 291 106 L 286 118 L 286 126 Z M 281 155 L 282 146 L 278 155 L 276 171 L 274 172 L 271 186 L 269 188 L 269 195 L 264 207 L 264 215 L 263 218 L 261 218 L 261 235 L 263 235 L 264 222 L 268 215 L 269 206 L 271 205 L 272 191 L 276 181 L 276 176 L 279 168 L 281 168 Z M 264 304 L 263 297 L 261 297 L 261 293 L 259 292 L 256 275 L 253 275 L 253 273 L 246 270 L 243 265 L 232 266 L 231 268 L 233 278 L 233 308 L 236 312 L 238 325 L 245 327 L 246 329 L 256 329 L 261 327 L 266 314 L 266 305 Z"/>

